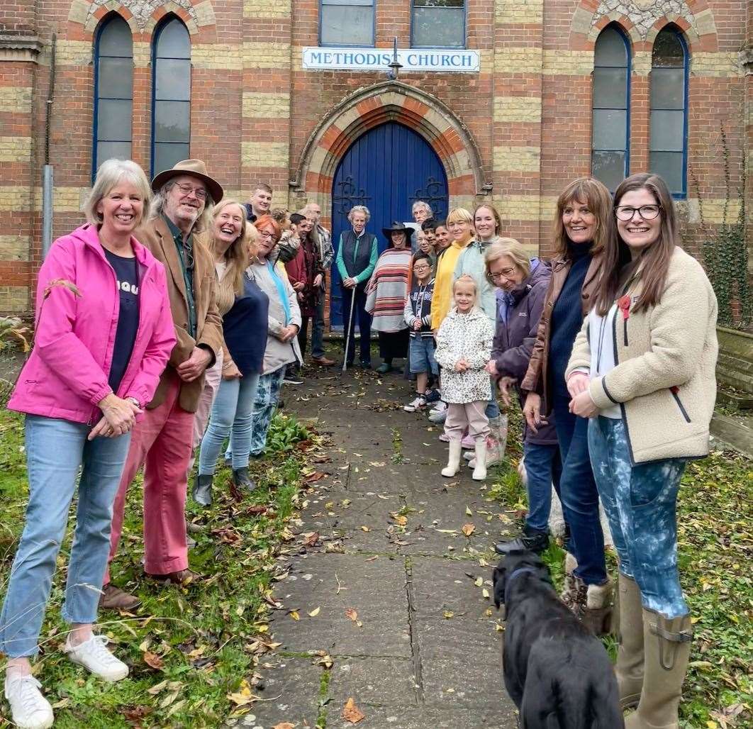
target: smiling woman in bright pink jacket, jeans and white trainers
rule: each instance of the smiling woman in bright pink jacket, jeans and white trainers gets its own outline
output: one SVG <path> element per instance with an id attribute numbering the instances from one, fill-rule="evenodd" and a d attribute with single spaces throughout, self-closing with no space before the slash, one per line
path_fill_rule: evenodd
<path id="1" fill-rule="evenodd" d="M 165 270 L 133 237 L 149 197 L 136 163 L 105 162 L 85 207 L 89 223 L 56 240 L 38 274 L 34 349 L 8 403 L 26 413 L 29 505 L 0 614 L 5 697 L 22 727 L 53 722 L 29 658 L 38 652 L 79 468 L 65 650 L 106 681 L 128 674 L 92 624 L 130 430 L 175 344 Z"/>

